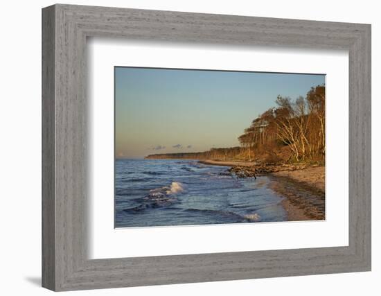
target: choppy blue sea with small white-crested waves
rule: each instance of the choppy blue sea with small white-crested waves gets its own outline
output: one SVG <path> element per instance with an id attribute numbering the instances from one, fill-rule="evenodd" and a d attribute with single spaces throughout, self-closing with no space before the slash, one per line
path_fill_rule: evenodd
<path id="1" fill-rule="evenodd" d="M 115 227 L 287 220 L 269 177 L 242 179 L 228 168 L 189 159 L 116 159 Z"/>

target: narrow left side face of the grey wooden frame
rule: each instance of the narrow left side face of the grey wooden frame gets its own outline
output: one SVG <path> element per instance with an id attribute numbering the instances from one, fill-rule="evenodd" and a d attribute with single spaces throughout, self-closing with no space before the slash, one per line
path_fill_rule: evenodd
<path id="1" fill-rule="evenodd" d="M 42 286 L 55 288 L 55 9 L 42 14 Z"/>

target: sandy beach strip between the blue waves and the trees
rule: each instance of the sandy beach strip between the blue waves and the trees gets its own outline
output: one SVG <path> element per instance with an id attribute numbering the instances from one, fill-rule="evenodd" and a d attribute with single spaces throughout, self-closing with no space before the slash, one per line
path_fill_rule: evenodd
<path id="1" fill-rule="evenodd" d="M 255 169 L 260 175 L 270 178 L 270 189 L 284 199 L 281 204 L 287 211 L 287 220 L 325 219 L 325 166 L 281 165 L 255 168 L 254 162 L 224 162 L 201 160 L 202 164 L 214 166 Z M 250 167 L 250 168 L 249 168 Z"/>

